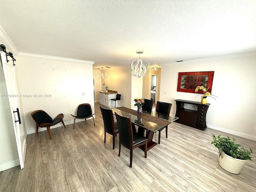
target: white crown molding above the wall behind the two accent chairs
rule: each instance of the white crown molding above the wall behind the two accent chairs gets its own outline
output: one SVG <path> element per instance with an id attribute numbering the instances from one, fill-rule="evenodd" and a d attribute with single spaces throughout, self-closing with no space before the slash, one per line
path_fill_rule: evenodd
<path id="1" fill-rule="evenodd" d="M 18 52 L 17 56 L 29 57 L 29 58 L 57 60 L 57 61 L 62 61 L 62 62 L 83 63 L 83 64 L 90 64 L 90 65 L 94 64 L 94 61 L 78 60 L 78 59 L 56 57 L 56 56 L 48 56 L 48 55 L 40 55 L 40 54 L 33 54 L 33 53 L 24 53 L 24 52 Z"/>

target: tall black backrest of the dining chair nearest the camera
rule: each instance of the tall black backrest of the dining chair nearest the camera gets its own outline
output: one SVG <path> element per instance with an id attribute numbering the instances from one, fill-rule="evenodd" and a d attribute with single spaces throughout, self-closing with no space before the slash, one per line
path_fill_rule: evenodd
<path id="1" fill-rule="evenodd" d="M 116 112 L 115 114 L 119 129 L 119 139 L 127 146 L 131 146 L 133 140 L 131 119 L 127 117 L 122 117 Z"/>

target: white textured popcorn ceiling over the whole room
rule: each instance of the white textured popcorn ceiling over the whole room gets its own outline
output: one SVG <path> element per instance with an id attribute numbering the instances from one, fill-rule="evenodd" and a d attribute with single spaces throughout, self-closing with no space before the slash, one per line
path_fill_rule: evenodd
<path id="1" fill-rule="evenodd" d="M 256 52 L 256 0 L 0 0 L 19 52 L 150 65 Z"/>

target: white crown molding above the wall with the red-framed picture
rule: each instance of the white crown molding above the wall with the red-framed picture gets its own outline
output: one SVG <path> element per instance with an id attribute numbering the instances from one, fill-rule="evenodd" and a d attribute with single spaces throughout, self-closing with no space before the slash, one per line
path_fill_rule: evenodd
<path id="1" fill-rule="evenodd" d="M 246 53 L 246 54 L 238 54 L 238 55 L 221 56 L 221 57 L 211 57 L 211 58 L 196 59 L 196 60 L 188 60 L 188 61 L 182 61 L 182 62 L 164 63 L 164 64 L 160 64 L 160 66 L 182 65 L 182 64 L 188 64 L 188 63 L 230 60 L 230 59 L 234 59 L 234 58 L 252 58 L 252 57 L 256 57 L 256 52 Z"/>

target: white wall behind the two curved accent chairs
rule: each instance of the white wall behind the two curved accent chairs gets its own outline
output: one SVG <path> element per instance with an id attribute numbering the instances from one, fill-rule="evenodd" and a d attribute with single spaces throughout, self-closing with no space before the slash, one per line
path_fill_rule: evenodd
<path id="1" fill-rule="evenodd" d="M 94 62 L 20 52 L 16 60 L 28 134 L 36 132 L 30 115 L 35 110 L 44 110 L 52 118 L 63 113 L 65 124 L 73 123 L 74 118 L 70 114 L 76 114 L 79 104 L 89 103 L 94 111 Z M 51 128 L 58 126 L 62 124 Z M 39 128 L 42 130 L 46 128 Z"/>

